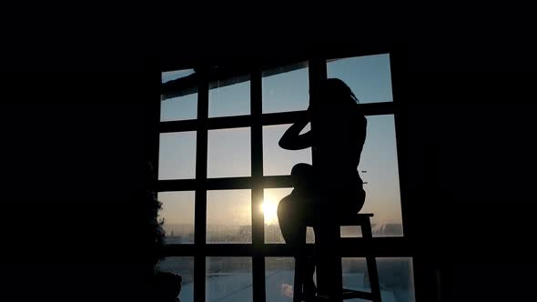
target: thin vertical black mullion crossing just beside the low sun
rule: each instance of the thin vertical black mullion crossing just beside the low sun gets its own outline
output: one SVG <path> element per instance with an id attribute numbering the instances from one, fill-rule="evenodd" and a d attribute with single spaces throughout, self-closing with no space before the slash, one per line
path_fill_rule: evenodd
<path id="1" fill-rule="evenodd" d="M 262 75 L 254 70 L 250 76 L 251 125 L 251 175 L 252 175 L 252 281 L 254 301 L 265 301 L 265 216 L 260 210 L 263 203 L 263 125 L 262 116 Z"/>

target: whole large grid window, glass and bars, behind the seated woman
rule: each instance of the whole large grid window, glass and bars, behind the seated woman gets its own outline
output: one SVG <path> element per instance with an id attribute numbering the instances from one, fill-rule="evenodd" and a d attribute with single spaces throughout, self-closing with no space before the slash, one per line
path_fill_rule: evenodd
<path id="1" fill-rule="evenodd" d="M 283 150 L 278 141 L 305 114 L 310 87 L 326 77 L 345 81 L 368 119 L 358 167 L 367 192 L 361 212 L 375 214 L 383 301 L 414 300 L 390 55 L 380 54 L 163 73 L 157 166 L 167 257 L 159 267 L 187 276 L 182 302 L 292 300 L 294 261 L 276 209 L 292 189 L 291 167 L 314 156 L 311 148 Z M 360 230 L 342 227 L 341 236 L 360 237 Z M 315 241 L 311 229 L 307 241 Z M 369 288 L 363 249 L 343 247 L 343 255 L 346 287 Z"/>

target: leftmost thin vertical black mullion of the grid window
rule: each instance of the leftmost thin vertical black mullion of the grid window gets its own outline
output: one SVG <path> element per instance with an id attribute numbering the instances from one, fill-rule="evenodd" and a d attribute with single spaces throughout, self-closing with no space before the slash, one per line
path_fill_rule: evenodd
<path id="1" fill-rule="evenodd" d="M 196 204 L 194 208 L 194 301 L 205 302 L 207 240 L 207 157 L 208 157 L 208 80 L 198 87 L 198 131 L 196 142 Z"/>

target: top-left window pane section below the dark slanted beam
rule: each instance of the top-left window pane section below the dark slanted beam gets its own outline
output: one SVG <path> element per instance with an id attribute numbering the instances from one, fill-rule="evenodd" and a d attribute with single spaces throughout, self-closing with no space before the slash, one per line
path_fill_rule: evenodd
<path id="1" fill-rule="evenodd" d="M 163 99 L 160 102 L 160 121 L 178 121 L 198 117 L 198 93 Z"/>

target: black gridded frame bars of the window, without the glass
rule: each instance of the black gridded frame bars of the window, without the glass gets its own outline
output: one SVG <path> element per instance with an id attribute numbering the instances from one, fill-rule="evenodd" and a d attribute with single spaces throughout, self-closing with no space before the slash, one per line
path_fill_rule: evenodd
<path id="1" fill-rule="evenodd" d="M 390 51 L 377 51 L 371 53 L 346 53 L 326 55 L 324 58 L 306 58 L 289 62 L 281 61 L 274 65 L 250 65 L 247 68 L 230 70 L 209 70 L 207 67 L 194 66 L 196 76 L 185 80 L 167 82 L 161 85 L 161 95 L 174 94 L 177 91 L 192 91 L 198 89 L 198 118 L 195 120 L 179 120 L 159 122 L 158 133 L 170 132 L 197 132 L 196 146 L 196 178 L 157 180 L 157 192 L 167 191 L 195 191 L 195 217 L 194 217 L 194 244 L 167 244 L 164 257 L 194 257 L 194 300 L 206 301 L 206 258 L 207 257 L 251 257 L 253 301 L 265 301 L 265 257 L 292 257 L 286 245 L 266 244 L 264 215 L 256 210 L 261 206 L 264 189 L 291 187 L 289 176 L 263 176 L 263 126 L 292 124 L 306 111 L 291 111 L 281 113 L 262 113 L 262 79 L 263 71 L 283 65 L 302 65 L 308 63 L 309 86 L 317 86 L 327 77 L 327 62 L 329 59 L 346 58 L 361 55 L 390 54 L 390 68 L 392 92 L 394 86 L 394 55 Z M 250 81 L 250 114 L 245 116 L 219 116 L 208 117 L 209 83 L 216 80 L 226 80 L 232 76 L 248 76 Z M 396 148 L 399 151 L 400 136 L 397 135 L 399 114 L 397 112 L 397 97 L 393 102 L 362 104 L 365 116 L 392 115 L 395 120 Z M 160 108 L 160 103 L 159 103 Z M 160 116 L 160 115 L 159 115 Z M 250 128 L 251 176 L 208 178 L 208 130 L 228 129 L 238 127 Z M 157 148 L 158 149 L 158 148 Z M 372 247 L 364 247 L 359 238 L 342 243 L 343 257 L 365 257 L 366 251 L 372 252 L 375 257 L 411 257 L 412 269 L 413 253 L 410 249 L 411 227 L 407 219 L 407 206 L 404 197 L 404 179 L 401 177 L 401 158 L 398 155 L 398 171 L 400 174 L 400 206 L 402 237 L 374 237 Z M 158 152 L 157 156 L 158 159 Z M 315 154 L 312 161 L 315 162 Z M 157 162 L 156 162 L 157 163 Z M 158 166 L 158 165 L 153 165 Z M 158 171 L 156 173 L 158 175 Z M 251 190 L 251 218 L 252 241 L 248 244 L 212 244 L 207 243 L 207 191 L 223 189 L 250 189 Z M 309 244 L 312 249 L 313 245 Z M 412 280 L 412 282 L 415 282 Z"/>

